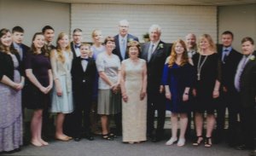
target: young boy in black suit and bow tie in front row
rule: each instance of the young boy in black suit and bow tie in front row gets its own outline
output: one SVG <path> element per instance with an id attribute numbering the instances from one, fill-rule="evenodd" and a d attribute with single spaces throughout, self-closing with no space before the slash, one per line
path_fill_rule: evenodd
<path id="1" fill-rule="evenodd" d="M 88 140 L 93 140 L 90 132 L 90 108 L 96 78 L 96 63 L 89 57 L 90 44 L 82 44 L 80 51 L 81 55 L 74 58 L 71 70 L 75 106 L 71 129 L 76 142 L 79 142 L 83 132 Z"/>

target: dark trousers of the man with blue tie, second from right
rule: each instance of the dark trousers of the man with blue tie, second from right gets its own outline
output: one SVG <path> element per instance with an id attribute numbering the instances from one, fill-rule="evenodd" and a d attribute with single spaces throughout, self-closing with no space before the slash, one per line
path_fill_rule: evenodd
<path id="1" fill-rule="evenodd" d="M 228 142 L 231 144 L 237 144 L 239 141 L 237 138 L 240 129 L 238 122 L 238 114 L 240 113 L 240 96 L 236 90 L 222 93 L 218 99 L 217 107 L 217 129 L 216 136 L 224 139 L 224 123 L 225 123 L 225 113 L 226 108 L 228 108 L 229 113 L 229 129 L 228 129 Z"/>

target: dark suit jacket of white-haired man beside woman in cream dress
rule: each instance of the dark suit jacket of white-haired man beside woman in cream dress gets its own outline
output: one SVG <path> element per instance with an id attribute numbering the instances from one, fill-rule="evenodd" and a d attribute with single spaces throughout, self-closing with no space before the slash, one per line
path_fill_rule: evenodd
<path id="1" fill-rule="evenodd" d="M 171 51 L 171 47 L 160 41 L 151 55 L 150 61 L 148 61 L 149 46 L 150 42 L 143 44 L 141 57 L 147 61 L 148 91 L 158 91 L 161 84 L 163 68 L 165 66 L 166 58 Z"/>

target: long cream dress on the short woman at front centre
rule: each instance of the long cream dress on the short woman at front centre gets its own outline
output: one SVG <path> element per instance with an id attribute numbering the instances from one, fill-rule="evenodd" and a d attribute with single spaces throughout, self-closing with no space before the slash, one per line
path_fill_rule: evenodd
<path id="1" fill-rule="evenodd" d="M 147 97 L 140 100 L 143 87 L 143 65 L 140 59 L 133 63 L 130 59 L 122 61 L 125 65 L 125 90 L 128 101 L 122 101 L 123 142 L 146 141 Z"/>

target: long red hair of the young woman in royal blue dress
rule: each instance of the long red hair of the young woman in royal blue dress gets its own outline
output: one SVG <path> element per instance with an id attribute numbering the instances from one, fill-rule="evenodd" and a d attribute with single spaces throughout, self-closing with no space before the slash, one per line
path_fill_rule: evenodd
<path id="1" fill-rule="evenodd" d="M 187 51 L 187 48 L 186 48 L 186 43 L 184 43 L 184 41 L 182 39 L 178 39 L 177 41 L 175 41 L 172 44 L 172 52 L 171 52 L 171 55 L 170 55 L 171 58 L 168 61 L 168 66 L 169 67 L 172 67 L 173 64 L 175 63 L 175 61 L 177 61 L 177 54 L 176 54 L 176 51 L 175 51 L 175 47 L 176 47 L 177 43 L 180 43 L 183 46 L 183 49 L 184 49 L 184 52 L 183 52 L 183 55 L 182 55 L 182 58 L 181 58 L 180 66 L 184 66 L 186 63 L 189 62 L 189 57 L 188 57 L 188 51 Z"/>

